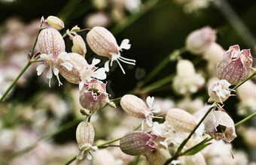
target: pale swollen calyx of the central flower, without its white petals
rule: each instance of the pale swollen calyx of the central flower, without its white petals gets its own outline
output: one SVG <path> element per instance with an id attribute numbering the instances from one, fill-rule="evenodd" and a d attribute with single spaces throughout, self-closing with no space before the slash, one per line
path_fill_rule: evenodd
<path id="1" fill-rule="evenodd" d="M 145 118 L 145 112 L 150 112 L 145 102 L 135 95 L 124 95 L 120 105 L 126 113 L 136 118 Z"/>

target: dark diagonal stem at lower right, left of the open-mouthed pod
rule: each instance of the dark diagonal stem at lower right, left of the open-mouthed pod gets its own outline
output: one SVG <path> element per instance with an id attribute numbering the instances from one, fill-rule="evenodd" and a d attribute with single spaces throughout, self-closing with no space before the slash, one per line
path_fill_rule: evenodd
<path id="1" fill-rule="evenodd" d="M 169 163 L 172 162 L 172 160 L 177 159 L 180 155 L 181 155 L 181 150 L 184 147 L 184 145 L 187 143 L 187 141 L 190 139 L 190 137 L 194 134 L 194 132 L 197 130 L 197 127 L 200 126 L 200 124 L 203 122 L 203 120 L 206 118 L 206 116 L 212 111 L 214 107 L 210 107 L 209 110 L 206 112 L 205 115 L 203 115 L 203 118 L 201 118 L 201 120 L 197 123 L 197 126 L 194 127 L 194 130 L 192 130 L 190 132 L 190 134 L 187 136 L 186 139 L 183 140 L 183 142 L 181 142 L 181 145 L 179 145 L 177 151 L 175 152 L 175 154 L 169 158 L 169 160 L 166 160 L 166 163 L 164 163 L 164 165 L 168 165 Z"/>

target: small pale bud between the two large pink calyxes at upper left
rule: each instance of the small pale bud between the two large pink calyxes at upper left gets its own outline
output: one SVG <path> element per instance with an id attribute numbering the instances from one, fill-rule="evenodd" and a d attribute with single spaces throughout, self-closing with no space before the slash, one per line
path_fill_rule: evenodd
<path id="1" fill-rule="evenodd" d="M 85 53 L 87 52 L 87 47 L 85 46 L 84 39 L 80 35 L 75 35 L 72 40 L 72 52 L 76 52 L 84 57 Z"/>

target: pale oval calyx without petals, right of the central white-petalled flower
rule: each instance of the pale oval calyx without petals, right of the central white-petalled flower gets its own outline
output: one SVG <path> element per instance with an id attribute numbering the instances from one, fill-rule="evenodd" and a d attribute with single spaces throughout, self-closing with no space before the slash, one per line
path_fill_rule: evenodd
<path id="1" fill-rule="evenodd" d="M 172 108 L 166 114 L 166 121 L 169 126 L 181 132 L 191 132 L 196 127 L 196 119 L 187 111 Z"/>

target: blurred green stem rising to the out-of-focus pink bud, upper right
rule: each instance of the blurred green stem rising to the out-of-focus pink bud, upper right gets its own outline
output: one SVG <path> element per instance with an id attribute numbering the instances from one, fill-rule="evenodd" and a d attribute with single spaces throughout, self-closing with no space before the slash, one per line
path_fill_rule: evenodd
<path id="1" fill-rule="evenodd" d="M 159 65 L 157 65 L 157 67 L 155 67 L 153 71 L 151 71 L 151 73 L 148 74 L 148 76 L 143 81 L 143 84 L 148 83 L 157 73 L 159 73 L 159 71 L 161 71 L 166 65 L 168 65 L 168 63 L 171 61 L 172 56 L 180 55 L 185 51 L 186 51 L 185 48 L 175 49 L 172 53 L 167 55 L 166 58 L 164 58 L 163 61 L 160 62 Z"/>

